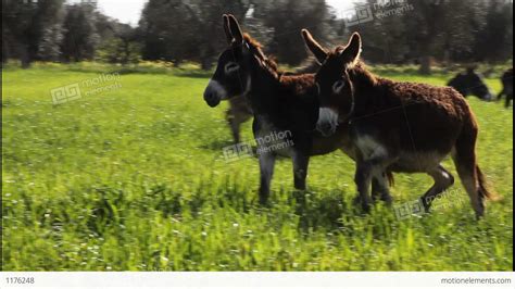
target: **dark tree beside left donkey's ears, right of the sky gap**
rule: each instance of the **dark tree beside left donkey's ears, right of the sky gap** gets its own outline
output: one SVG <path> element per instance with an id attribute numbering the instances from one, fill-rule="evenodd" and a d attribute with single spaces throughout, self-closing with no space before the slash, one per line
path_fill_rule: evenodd
<path id="1" fill-rule="evenodd" d="M 234 0 L 150 0 L 140 21 L 143 58 L 176 64 L 199 61 L 208 70 L 222 45 L 226 45 L 222 14 L 243 18 L 248 5 L 249 2 Z"/>

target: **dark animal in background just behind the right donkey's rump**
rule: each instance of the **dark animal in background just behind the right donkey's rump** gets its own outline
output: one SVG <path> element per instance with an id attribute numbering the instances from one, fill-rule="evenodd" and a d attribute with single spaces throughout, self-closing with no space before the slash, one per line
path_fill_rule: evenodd
<path id="1" fill-rule="evenodd" d="M 448 86 L 456 89 L 462 96 L 475 96 L 485 101 L 492 101 L 493 95 L 490 88 L 485 84 L 483 77 L 475 68 L 468 68 L 466 72 L 452 78 Z"/>

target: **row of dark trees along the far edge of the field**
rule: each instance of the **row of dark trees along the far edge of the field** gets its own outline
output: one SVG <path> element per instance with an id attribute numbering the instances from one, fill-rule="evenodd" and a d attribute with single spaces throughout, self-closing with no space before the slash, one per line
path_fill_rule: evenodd
<path id="1" fill-rule="evenodd" d="M 367 0 L 374 13 L 384 0 Z M 388 2 L 388 1 L 387 1 Z M 395 3 L 400 1 L 394 1 Z M 137 27 L 102 15 L 93 4 L 63 0 L 2 0 L 2 62 L 101 60 L 185 61 L 211 68 L 226 45 L 221 15 L 235 14 L 282 63 L 307 56 L 301 28 L 327 46 L 353 30 L 365 39 L 372 63 L 503 63 L 513 59 L 513 1 L 407 0 L 399 15 L 347 27 L 325 0 L 149 0 Z M 392 7 L 394 8 L 394 7 Z"/>

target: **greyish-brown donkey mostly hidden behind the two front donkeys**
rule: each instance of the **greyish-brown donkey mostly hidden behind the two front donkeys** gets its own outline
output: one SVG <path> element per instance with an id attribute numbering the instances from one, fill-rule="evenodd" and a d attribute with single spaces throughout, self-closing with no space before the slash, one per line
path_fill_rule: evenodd
<path id="1" fill-rule="evenodd" d="M 307 73 L 316 73 L 321 65 L 316 60 L 310 59 L 305 62 L 306 64 L 302 65 L 299 70 L 293 73 L 285 73 L 284 75 L 302 75 Z M 249 100 L 244 96 L 239 96 L 235 98 L 229 98 L 229 109 L 226 113 L 226 120 L 229 124 L 230 130 L 233 133 L 233 139 L 235 143 L 241 141 L 240 138 L 240 127 L 243 123 L 250 121 L 253 116 L 252 108 Z"/>

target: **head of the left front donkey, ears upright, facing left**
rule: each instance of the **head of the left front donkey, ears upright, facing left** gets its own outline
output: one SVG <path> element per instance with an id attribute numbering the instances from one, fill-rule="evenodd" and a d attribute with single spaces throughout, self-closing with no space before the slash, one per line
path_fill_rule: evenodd
<path id="1" fill-rule="evenodd" d="M 256 59 L 266 59 L 260 45 L 243 35 L 235 16 L 224 14 L 223 20 L 228 47 L 219 55 L 216 71 L 204 91 L 204 100 L 212 108 L 222 100 L 250 92 L 251 65 Z"/>

